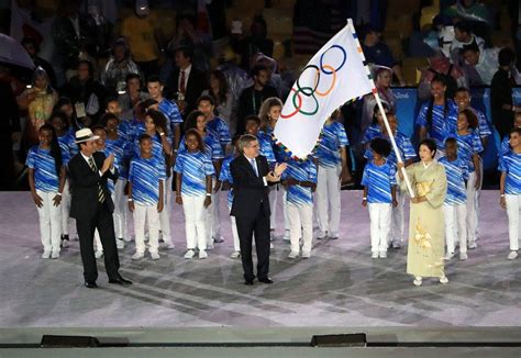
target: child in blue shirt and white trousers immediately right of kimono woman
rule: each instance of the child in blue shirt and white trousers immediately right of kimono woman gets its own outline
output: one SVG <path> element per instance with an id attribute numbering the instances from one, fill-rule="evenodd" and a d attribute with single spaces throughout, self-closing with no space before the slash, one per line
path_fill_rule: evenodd
<path id="1" fill-rule="evenodd" d="M 445 260 L 454 257 L 455 238 L 459 243 L 459 259 L 466 260 L 467 256 L 467 192 L 465 183 L 468 180 L 467 161 L 457 155 L 456 138 L 445 141 L 446 156 L 440 158 L 439 163 L 445 167 L 447 176 L 447 193 L 443 202 L 443 214 L 445 217 L 445 243 L 447 250 Z"/>

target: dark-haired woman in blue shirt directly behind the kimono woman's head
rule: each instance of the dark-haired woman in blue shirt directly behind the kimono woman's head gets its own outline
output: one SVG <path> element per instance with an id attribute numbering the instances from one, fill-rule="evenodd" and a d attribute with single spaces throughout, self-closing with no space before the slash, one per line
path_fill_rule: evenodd
<path id="1" fill-rule="evenodd" d="M 420 139 L 426 137 L 436 144 L 436 158 L 444 156 L 445 137 L 454 135 L 457 127 L 457 104 L 447 98 L 446 81 L 434 76 L 431 81 L 431 99 L 422 104 L 415 125 L 420 127 Z"/>

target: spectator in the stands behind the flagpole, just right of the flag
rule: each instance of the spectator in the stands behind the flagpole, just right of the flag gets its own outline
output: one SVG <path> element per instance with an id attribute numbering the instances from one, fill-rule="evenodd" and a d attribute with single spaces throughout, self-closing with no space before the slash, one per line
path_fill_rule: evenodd
<path id="1" fill-rule="evenodd" d="M 376 88 L 383 103 L 390 112 L 396 112 L 396 99 L 390 83 L 392 81 L 392 70 L 388 67 L 373 66 L 373 78 L 375 79 Z M 374 118 L 374 109 L 376 99 L 373 93 L 364 97 L 364 107 L 362 109 L 361 133 L 365 133 L 367 127 L 372 124 Z"/>

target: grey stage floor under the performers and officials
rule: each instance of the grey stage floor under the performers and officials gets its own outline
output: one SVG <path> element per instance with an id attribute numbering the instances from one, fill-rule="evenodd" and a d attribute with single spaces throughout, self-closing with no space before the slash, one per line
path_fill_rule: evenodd
<path id="1" fill-rule="evenodd" d="M 208 259 L 182 258 L 182 210 L 176 205 L 176 248 L 162 249 L 158 261 L 133 261 L 131 243 L 120 253 L 121 272 L 134 284 L 108 284 L 100 262 L 100 288 L 89 290 L 82 287 L 78 242 L 73 240 L 57 260 L 40 258 L 37 214 L 30 193 L 0 193 L 0 327 L 21 328 L 22 335 L 36 327 L 62 333 L 75 332 L 67 327 L 104 333 L 112 332 L 110 327 L 230 327 L 239 336 L 260 329 L 277 339 L 273 333 L 284 327 L 336 333 L 388 327 L 386 332 L 392 333 L 400 327 L 446 332 L 521 324 L 521 260 L 507 260 L 507 215 L 497 191 L 481 194 L 480 238 L 469 259 L 446 265 L 448 284 L 425 280 L 420 288 L 406 275 L 407 247 L 389 251 L 387 259 L 370 258 L 369 220 L 361 198 L 359 191 L 342 192 L 340 239 L 314 240 L 310 259 L 288 259 L 288 243 L 280 237 L 274 242 L 275 284 L 243 284 L 241 262 L 230 258 L 233 246 L 222 197 L 226 240 L 217 244 Z M 219 339 L 221 332 L 190 329 L 185 331 L 186 339 L 206 342 Z M 306 332 L 306 340 L 311 332 Z M 0 337 L 7 333 L 0 332 Z"/>

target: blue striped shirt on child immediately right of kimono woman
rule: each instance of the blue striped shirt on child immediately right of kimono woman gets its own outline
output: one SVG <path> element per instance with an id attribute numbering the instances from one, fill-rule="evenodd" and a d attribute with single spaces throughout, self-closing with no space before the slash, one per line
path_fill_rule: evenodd
<path id="1" fill-rule="evenodd" d="M 468 163 L 459 157 L 453 161 L 448 160 L 447 157 L 442 157 L 437 163 L 445 167 L 447 176 L 445 204 L 465 204 L 467 202 L 465 181 L 468 180 Z"/>

